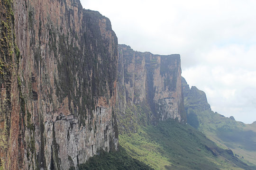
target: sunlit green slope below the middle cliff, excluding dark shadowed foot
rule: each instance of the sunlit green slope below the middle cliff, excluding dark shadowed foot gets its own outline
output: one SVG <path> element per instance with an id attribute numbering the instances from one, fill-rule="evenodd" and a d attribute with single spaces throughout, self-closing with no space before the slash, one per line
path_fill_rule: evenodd
<path id="1" fill-rule="evenodd" d="M 133 158 L 155 170 L 253 170 L 230 150 L 220 149 L 190 125 L 175 121 L 140 127 L 137 133 L 120 135 L 119 142 Z"/>

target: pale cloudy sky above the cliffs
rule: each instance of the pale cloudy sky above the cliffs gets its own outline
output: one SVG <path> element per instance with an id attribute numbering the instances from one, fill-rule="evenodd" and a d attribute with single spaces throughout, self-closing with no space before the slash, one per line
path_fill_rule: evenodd
<path id="1" fill-rule="evenodd" d="M 110 18 L 119 44 L 180 54 L 182 76 L 211 109 L 256 121 L 256 0 L 81 0 Z"/>

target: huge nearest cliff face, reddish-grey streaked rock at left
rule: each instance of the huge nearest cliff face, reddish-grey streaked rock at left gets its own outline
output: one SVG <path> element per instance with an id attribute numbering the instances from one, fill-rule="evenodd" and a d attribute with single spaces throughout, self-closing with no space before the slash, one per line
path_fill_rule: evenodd
<path id="1" fill-rule="evenodd" d="M 4 169 L 63 169 L 118 146 L 118 45 L 79 0 L 0 2 Z"/>

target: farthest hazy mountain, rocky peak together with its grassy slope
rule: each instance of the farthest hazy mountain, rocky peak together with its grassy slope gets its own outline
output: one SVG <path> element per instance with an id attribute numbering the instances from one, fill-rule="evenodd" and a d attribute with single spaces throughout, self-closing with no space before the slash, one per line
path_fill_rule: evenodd
<path id="1" fill-rule="evenodd" d="M 184 96 L 184 105 L 189 124 L 241 160 L 256 164 L 256 123 L 247 125 L 207 109 L 205 93 L 196 88 Z"/>

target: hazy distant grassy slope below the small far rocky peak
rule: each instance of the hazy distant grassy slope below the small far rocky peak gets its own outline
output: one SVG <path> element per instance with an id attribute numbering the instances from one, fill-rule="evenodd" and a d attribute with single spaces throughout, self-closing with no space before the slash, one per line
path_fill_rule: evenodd
<path id="1" fill-rule="evenodd" d="M 223 148 L 230 148 L 238 157 L 256 164 L 256 127 L 225 118 L 212 111 L 196 112 L 198 129 Z"/>

